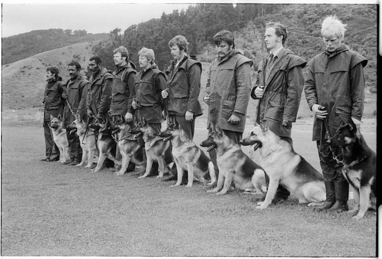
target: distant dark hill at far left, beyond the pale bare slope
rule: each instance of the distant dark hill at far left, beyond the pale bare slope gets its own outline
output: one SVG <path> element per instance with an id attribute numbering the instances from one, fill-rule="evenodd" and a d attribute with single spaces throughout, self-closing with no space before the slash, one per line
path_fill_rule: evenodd
<path id="1" fill-rule="evenodd" d="M 2 38 L 2 64 L 9 64 L 35 54 L 76 43 L 108 39 L 107 33 L 88 34 L 85 30 L 35 30 Z"/>

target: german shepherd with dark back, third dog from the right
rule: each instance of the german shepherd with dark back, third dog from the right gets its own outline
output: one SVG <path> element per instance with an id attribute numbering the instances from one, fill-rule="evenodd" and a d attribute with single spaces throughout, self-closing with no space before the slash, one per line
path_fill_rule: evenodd
<path id="1" fill-rule="evenodd" d="M 207 151 L 216 149 L 216 163 L 219 168 L 217 186 L 207 193 L 226 194 L 232 181 L 235 187 L 245 192 L 266 192 L 264 170 L 240 149 L 240 146 L 228 138 L 219 126 L 210 124 L 212 129 L 208 138 L 200 146 Z M 224 183 L 224 185 L 223 185 Z M 223 189 L 222 189 L 223 188 Z"/>

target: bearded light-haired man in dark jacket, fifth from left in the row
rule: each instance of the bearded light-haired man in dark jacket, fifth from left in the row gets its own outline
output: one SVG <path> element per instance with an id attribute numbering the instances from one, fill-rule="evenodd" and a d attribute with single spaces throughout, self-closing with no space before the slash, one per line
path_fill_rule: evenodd
<path id="1" fill-rule="evenodd" d="M 159 134 L 163 121 L 161 92 L 167 87 L 166 76 L 155 64 L 153 50 L 142 48 L 138 55 L 141 70 L 135 76 L 132 107 L 137 110 L 137 117 L 144 117 Z"/>

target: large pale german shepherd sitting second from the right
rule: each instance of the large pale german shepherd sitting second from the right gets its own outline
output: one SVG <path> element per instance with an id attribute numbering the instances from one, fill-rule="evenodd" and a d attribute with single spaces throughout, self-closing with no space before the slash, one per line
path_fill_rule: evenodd
<path id="1" fill-rule="evenodd" d="M 250 135 L 240 141 L 243 146 L 254 145 L 259 149 L 261 166 L 269 176 L 268 191 L 263 202 L 256 208 L 266 208 L 282 184 L 299 203 L 319 206 L 326 200 L 325 185 L 320 174 L 307 160 L 297 154 L 290 143 L 268 129 L 266 123 L 261 126 L 255 122 Z"/>

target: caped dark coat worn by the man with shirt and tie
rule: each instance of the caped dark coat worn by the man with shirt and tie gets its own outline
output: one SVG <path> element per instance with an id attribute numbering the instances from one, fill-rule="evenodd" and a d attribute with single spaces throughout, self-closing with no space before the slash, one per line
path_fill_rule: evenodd
<path id="1" fill-rule="evenodd" d="M 280 50 L 268 71 L 267 61 L 267 58 L 260 61 L 256 83 L 251 91 L 251 97 L 258 99 L 255 89 L 264 86 L 263 96 L 257 103 L 256 122 L 266 120 L 268 128 L 276 135 L 290 138 L 291 122 L 296 121 L 300 106 L 304 88 L 303 68 L 307 62 L 289 49 Z M 269 73 L 267 77 L 266 73 Z M 282 125 L 283 119 L 289 122 L 287 126 Z"/>

